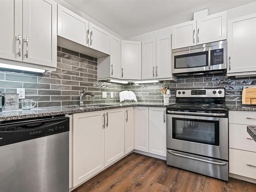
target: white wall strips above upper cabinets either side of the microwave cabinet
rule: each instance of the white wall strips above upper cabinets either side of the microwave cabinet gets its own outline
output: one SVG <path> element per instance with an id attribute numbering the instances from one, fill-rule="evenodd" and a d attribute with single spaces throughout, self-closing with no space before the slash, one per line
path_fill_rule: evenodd
<path id="1" fill-rule="evenodd" d="M 236 8 L 228 9 L 227 19 L 244 16 L 251 13 L 256 13 L 256 2 L 239 6 Z M 141 35 L 137 35 L 137 36 L 128 38 L 127 40 L 144 41 L 144 40 L 150 40 L 152 38 L 156 38 L 160 35 L 169 35 L 169 34 L 172 34 L 172 26 L 147 32 Z"/>

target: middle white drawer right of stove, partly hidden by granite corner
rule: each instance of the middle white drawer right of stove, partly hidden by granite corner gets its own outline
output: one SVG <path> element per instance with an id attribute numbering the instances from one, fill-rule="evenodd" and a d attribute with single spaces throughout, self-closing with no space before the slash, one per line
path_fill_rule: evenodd
<path id="1" fill-rule="evenodd" d="M 247 133 L 247 125 L 229 123 L 229 147 L 256 152 L 256 142 Z"/>

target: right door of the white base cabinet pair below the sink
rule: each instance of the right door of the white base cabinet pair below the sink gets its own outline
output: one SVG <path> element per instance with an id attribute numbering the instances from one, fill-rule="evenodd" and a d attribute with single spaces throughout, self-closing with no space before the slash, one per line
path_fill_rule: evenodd
<path id="1" fill-rule="evenodd" d="M 106 111 L 105 166 L 124 156 L 124 109 Z"/>

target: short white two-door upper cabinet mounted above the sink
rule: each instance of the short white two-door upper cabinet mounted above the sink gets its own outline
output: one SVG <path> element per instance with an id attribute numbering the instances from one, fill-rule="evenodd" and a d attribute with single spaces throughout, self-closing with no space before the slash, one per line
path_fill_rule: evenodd
<path id="1" fill-rule="evenodd" d="M 58 36 L 110 54 L 110 33 L 58 5 Z"/>

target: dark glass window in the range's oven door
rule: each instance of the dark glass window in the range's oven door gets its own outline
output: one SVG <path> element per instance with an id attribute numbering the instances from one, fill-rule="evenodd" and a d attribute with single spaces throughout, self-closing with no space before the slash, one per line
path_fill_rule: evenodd
<path id="1" fill-rule="evenodd" d="M 173 117 L 173 139 L 219 146 L 219 121 Z"/>

